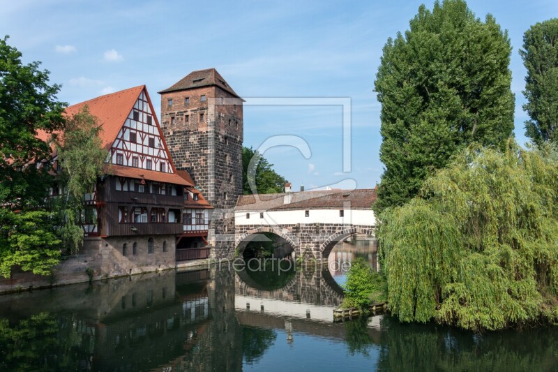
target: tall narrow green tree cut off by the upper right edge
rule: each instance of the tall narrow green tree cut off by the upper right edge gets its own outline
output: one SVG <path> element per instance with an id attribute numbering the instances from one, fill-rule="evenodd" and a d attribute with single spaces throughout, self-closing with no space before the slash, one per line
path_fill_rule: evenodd
<path id="1" fill-rule="evenodd" d="M 557 141 L 558 129 L 558 18 L 531 26 L 523 36 L 519 53 L 527 68 L 525 98 L 530 120 L 527 137 L 536 144 Z"/>

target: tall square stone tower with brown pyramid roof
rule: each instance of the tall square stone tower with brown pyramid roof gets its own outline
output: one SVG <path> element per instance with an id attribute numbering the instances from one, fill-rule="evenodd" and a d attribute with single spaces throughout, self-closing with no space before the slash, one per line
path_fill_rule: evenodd
<path id="1" fill-rule="evenodd" d="M 160 91 L 161 127 L 177 169 L 187 170 L 213 207 L 213 258 L 234 252 L 234 205 L 242 194 L 243 100 L 215 68 Z"/>

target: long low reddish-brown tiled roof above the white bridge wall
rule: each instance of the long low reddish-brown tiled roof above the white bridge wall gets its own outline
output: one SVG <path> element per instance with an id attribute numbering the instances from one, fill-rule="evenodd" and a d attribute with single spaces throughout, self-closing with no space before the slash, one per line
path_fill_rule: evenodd
<path id="1" fill-rule="evenodd" d="M 290 202 L 285 199 L 290 198 Z M 299 193 L 280 193 L 241 195 L 236 203 L 236 211 L 286 210 L 286 209 L 342 209 L 349 202 L 352 209 L 369 209 L 376 201 L 376 190 L 361 188 L 357 190 L 302 191 Z"/>

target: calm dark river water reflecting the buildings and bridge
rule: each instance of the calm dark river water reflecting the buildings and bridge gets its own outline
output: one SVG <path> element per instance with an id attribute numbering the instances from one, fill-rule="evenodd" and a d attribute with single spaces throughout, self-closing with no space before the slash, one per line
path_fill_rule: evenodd
<path id="1" fill-rule="evenodd" d="M 361 246 L 359 246 L 359 244 Z M 375 265 L 365 244 L 340 244 Z M 556 371 L 556 329 L 333 323 L 344 274 L 165 272 L 0 297 L 0 371 Z"/>

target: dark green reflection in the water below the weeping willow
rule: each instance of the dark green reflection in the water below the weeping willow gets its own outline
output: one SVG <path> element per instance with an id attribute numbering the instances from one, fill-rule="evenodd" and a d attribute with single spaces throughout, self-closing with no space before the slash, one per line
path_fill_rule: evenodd
<path id="1" fill-rule="evenodd" d="M 554 332 L 554 333 L 553 333 Z M 382 320 L 380 371 L 555 371 L 555 329 L 473 334 Z"/>

